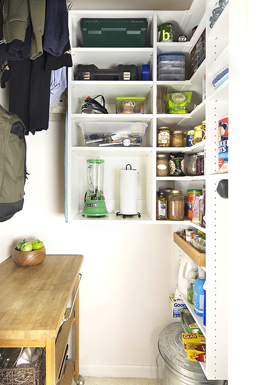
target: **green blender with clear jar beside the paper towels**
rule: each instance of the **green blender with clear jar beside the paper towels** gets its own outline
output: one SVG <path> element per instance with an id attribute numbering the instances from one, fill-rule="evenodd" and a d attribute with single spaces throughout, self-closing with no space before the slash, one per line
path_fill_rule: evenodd
<path id="1" fill-rule="evenodd" d="M 93 157 L 87 162 L 87 184 L 85 205 L 82 211 L 84 217 L 103 217 L 109 215 L 103 195 L 104 160 Z"/>

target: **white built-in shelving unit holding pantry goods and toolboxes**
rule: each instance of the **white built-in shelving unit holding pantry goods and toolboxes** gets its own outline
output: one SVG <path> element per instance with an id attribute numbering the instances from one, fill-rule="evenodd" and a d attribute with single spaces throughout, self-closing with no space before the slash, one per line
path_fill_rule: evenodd
<path id="1" fill-rule="evenodd" d="M 220 62 L 228 53 L 228 6 L 219 17 L 215 26 L 209 28 L 209 17 L 215 8 L 215 1 L 194 0 L 187 11 L 69 11 L 69 30 L 73 68 L 68 69 L 68 221 L 80 220 L 122 223 L 148 223 L 171 226 L 173 233 L 181 228 L 195 228 L 206 233 L 207 258 L 207 326 L 199 317 L 196 322 L 207 338 L 207 361 L 202 365 L 208 379 L 227 379 L 227 300 L 224 299 L 223 282 L 227 274 L 226 244 L 222 231 L 227 225 L 227 200 L 216 192 L 221 179 L 228 175 L 218 174 L 217 122 L 228 114 L 228 82 L 213 91 L 210 79 L 218 69 Z M 145 48 L 83 48 L 79 22 L 82 17 L 146 17 L 149 21 L 148 47 Z M 172 21 L 176 34 L 192 35 L 192 28 L 198 25 L 191 40 L 186 43 L 158 43 L 157 27 L 159 24 Z M 222 34 L 220 29 L 224 28 Z M 190 52 L 201 33 L 206 29 L 206 59 L 190 78 Z M 185 53 L 186 80 L 183 82 L 157 81 L 157 57 L 160 53 Z M 75 81 L 74 71 L 78 64 L 95 64 L 99 68 L 114 68 L 118 64 L 150 64 L 151 81 Z M 206 74 L 206 99 L 202 98 L 202 82 Z M 157 86 L 168 87 L 168 92 L 192 91 L 191 112 L 184 115 L 157 114 Z M 87 95 L 95 97 L 104 95 L 108 114 L 81 114 L 80 109 Z M 138 115 L 121 115 L 115 113 L 115 98 L 119 96 L 145 97 L 145 113 Z M 184 131 L 193 129 L 206 120 L 206 140 L 192 147 L 159 148 L 156 146 L 157 129 L 169 126 Z M 79 123 L 87 121 L 103 122 L 145 122 L 148 124 L 142 147 L 86 147 Z M 206 175 L 202 177 L 160 178 L 156 177 L 156 155 L 163 152 L 185 152 L 185 160 L 189 153 L 200 152 L 206 148 Z M 84 218 L 81 211 L 84 206 L 86 191 L 86 159 L 101 156 L 105 159 L 104 196 L 109 216 L 104 218 Z M 139 196 L 138 211 L 141 218 L 117 217 L 119 211 L 119 171 L 126 164 L 132 164 L 138 170 Z M 156 192 L 160 188 L 181 189 L 187 195 L 188 189 L 201 189 L 206 184 L 206 229 L 184 221 L 156 221 Z M 210 220 L 211 218 L 211 220 Z M 174 277 L 175 283 L 182 249 L 174 244 Z M 217 280 L 218 277 L 218 280 Z M 222 301 L 220 300 L 222 296 Z M 219 302 L 218 302 L 219 300 Z M 186 299 L 185 299 L 186 301 Z M 217 303 L 219 305 L 217 305 Z M 190 306 L 189 306 L 190 307 Z M 193 310 L 190 307 L 192 314 Z"/>

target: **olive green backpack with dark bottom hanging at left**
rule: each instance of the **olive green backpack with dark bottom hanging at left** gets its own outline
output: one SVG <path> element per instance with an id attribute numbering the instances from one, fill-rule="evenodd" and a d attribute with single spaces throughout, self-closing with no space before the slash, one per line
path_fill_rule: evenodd
<path id="1" fill-rule="evenodd" d="M 23 208 L 26 171 L 25 126 L 0 105 L 0 222 Z"/>

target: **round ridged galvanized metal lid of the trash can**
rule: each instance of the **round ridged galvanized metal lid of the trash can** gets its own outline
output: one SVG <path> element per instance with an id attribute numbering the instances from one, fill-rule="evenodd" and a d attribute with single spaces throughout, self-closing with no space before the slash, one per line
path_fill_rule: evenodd
<path id="1" fill-rule="evenodd" d="M 171 323 L 159 335 L 158 348 L 161 357 L 173 370 L 181 375 L 203 383 L 217 383 L 207 380 L 199 362 L 187 358 L 182 344 L 181 334 L 184 333 L 180 323 Z M 197 382 L 199 383 L 199 382 Z"/>

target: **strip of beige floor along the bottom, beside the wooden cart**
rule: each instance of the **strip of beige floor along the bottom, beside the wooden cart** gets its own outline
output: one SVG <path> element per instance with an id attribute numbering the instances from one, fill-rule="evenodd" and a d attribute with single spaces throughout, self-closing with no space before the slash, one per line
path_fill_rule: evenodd
<path id="1" fill-rule="evenodd" d="M 149 378 L 114 378 L 114 377 L 82 377 L 84 385 L 159 385 L 158 379 Z M 76 382 L 73 383 L 76 385 Z M 79 383 L 80 385 L 80 383 Z M 160 385 L 162 380 L 160 379 Z"/>

